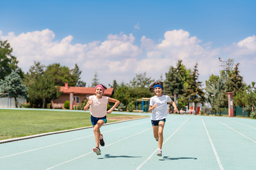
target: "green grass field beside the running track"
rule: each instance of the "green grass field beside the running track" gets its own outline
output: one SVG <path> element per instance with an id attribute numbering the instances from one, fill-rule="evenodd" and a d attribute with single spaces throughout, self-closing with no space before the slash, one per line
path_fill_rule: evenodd
<path id="1" fill-rule="evenodd" d="M 139 117 L 108 114 L 107 122 Z M 0 109 L 0 140 L 86 126 L 92 126 L 89 112 Z"/>

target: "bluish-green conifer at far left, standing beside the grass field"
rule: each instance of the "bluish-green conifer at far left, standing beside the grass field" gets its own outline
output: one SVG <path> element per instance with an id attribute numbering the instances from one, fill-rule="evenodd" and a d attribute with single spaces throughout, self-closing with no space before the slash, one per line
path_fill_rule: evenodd
<path id="1" fill-rule="evenodd" d="M 9 97 L 14 97 L 16 107 L 18 107 L 17 97 L 27 98 L 27 91 L 27 86 L 22 83 L 20 75 L 15 71 L 12 71 L 11 74 L 6 76 L 5 80 L 1 80 L 0 92 L 9 93 Z"/>

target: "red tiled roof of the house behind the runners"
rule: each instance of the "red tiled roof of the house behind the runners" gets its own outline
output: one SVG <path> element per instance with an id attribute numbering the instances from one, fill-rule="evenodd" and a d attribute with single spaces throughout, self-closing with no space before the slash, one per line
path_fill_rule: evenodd
<path id="1" fill-rule="evenodd" d="M 113 93 L 113 88 L 108 88 L 105 90 L 105 95 L 111 96 Z M 63 91 L 64 94 L 69 94 L 70 92 L 73 92 L 74 94 L 87 94 L 87 95 L 94 95 L 95 94 L 95 88 L 94 87 L 74 87 L 74 86 L 68 86 L 65 88 L 65 86 L 60 86 L 60 91 Z"/>

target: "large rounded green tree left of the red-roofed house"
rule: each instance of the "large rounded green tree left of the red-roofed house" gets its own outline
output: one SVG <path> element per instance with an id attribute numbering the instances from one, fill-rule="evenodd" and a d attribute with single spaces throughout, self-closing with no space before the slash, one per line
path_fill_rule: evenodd
<path id="1" fill-rule="evenodd" d="M 58 98 L 61 95 L 60 87 L 52 81 L 52 75 L 44 72 L 44 65 L 34 62 L 25 75 L 24 83 L 28 86 L 30 104 L 34 107 L 45 107 L 46 101 Z"/>

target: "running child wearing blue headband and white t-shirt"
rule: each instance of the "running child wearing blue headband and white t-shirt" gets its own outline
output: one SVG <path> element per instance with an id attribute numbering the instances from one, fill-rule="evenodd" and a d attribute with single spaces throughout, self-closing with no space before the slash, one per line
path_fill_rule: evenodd
<path id="1" fill-rule="evenodd" d="M 162 94 L 162 82 L 154 82 L 154 84 L 149 87 L 149 90 L 156 94 L 150 98 L 148 111 L 152 111 L 151 124 L 153 127 L 154 138 L 156 141 L 158 141 L 157 156 L 162 156 L 163 127 L 165 118 L 167 118 L 167 103 L 170 103 L 174 106 L 175 112 L 178 112 L 178 108 L 175 102 L 173 102 L 169 96 Z"/>

